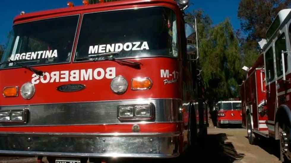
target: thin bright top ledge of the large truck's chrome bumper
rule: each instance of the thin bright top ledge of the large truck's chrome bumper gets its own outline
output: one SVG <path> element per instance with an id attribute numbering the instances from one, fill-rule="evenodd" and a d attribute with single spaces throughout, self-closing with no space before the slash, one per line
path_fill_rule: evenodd
<path id="1" fill-rule="evenodd" d="M 129 133 L 48 133 L 48 132 L 0 132 L 1 136 L 20 135 L 20 136 L 55 136 L 55 137 L 175 137 L 180 132 L 129 132 Z"/>

